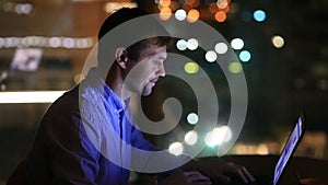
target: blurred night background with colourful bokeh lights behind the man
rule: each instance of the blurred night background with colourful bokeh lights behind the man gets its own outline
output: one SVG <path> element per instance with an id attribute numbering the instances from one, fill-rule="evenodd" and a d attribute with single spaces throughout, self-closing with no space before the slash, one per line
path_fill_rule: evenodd
<path id="1" fill-rule="evenodd" d="M 180 19 L 192 24 L 201 20 L 234 49 L 239 62 L 230 71 L 245 73 L 248 109 L 231 154 L 279 153 L 305 109 L 307 132 L 296 154 L 328 159 L 327 0 L 1 0 L 0 184 L 25 157 L 49 104 L 83 78 L 82 68 L 96 44 L 101 24 L 120 7 L 161 13 L 163 21 Z M 196 37 L 175 41 L 172 49 L 192 58 L 176 70 L 197 74 L 201 63 L 213 62 L 227 47 L 218 43 L 213 50 L 201 50 L 199 45 Z M 208 135 L 225 135 L 229 139 L 233 135 L 226 126 L 229 85 L 224 76 L 212 76 L 218 82 L 214 88 L 220 115 L 218 127 Z M 180 124 L 163 136 L 147 136 L 175 154 L 183 152 L 181 142 L 192 146 L 198 140 L 192 131 L 198 124 L 195 104 L 190 103 L 192 93 L 184 89 L 188 85 L 183 81 L 167 77 L 154 94 L 142 100 L 152 119 L 161 118 L 161 112 L 153 109 L 161 109 L 167 96 L 181 100 Z M 218 146 L 224 142 L 222 137 L 212 138 L 219 140 L 206 139 L 208 148 L 200 157 L 215 155 Z"/>

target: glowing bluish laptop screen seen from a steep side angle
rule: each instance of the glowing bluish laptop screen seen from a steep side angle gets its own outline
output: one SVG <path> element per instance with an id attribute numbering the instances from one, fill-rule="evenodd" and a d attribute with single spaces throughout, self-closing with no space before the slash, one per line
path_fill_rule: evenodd
<path id="1" fill-rule="evenodd" d="M 297 147 L 297 143 L 301 140 L 301 137 L 304 132 L 304 117 L 303 114 L 298 117 L 293 131 L 291 132 L 288 142 L 285 143 L 281 155 L 274 166 L 274 175 L 272 185 L 277 185 L 283 170 L 285 169 L 286 163 L 289 162 L 291 155 Z"/>

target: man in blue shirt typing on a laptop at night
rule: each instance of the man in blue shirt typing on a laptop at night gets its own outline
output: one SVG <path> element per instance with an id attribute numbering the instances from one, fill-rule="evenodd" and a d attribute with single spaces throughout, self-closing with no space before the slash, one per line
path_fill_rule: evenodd
<path id="1" fill-rule="evenodd" d="M 138 8 L 124 8 L 104 22 L 98 33 L 97 67 L 92 68 L 78 86 L 54 102 L 39 125 L 26 158 L 28 184 L 118 185 L 128 184 L 130 170 L 140 164 L 151 171 L 153 162 L 149 162 L 149 155 L 136 151 L 159 150 L 144 140 L 131 123 L 129 101 L 131 93 L 151 94 L 159 78 L 165 76 L 169 41 L 153 36 L 131 46 L 116 47 L 112 54 L 106 47 L 112 43 L 104 39 L 116 26 L 147 14 Z M 147 28 L 145 32 L 152 34 L 153 31 Z M 114 63 L 108 66 L 110 60 Z M 162 160 L 163 165 L 169 160 L 186 162 L 184 157 L 169 154 L 167 160 Z M 245 182 L 253 181 L 243 166 L 190 160 L 159 184 L 211 184 L 210 178 L 229 181 L 224 172 L 235 173 Z"/>

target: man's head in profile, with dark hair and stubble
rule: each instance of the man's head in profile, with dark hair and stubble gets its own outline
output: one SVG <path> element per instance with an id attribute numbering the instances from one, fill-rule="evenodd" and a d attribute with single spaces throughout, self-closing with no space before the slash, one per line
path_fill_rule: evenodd
<path id="1" fill-rule="evenodd" d="M 125 80 L 125 88 L 141 95 L 149 95 L 159 77 L 165 76 L 163 61 L 167 57 L 166 46 L 169 44 L 171 38 L 168 36 L 157 36 L 163 35 L 163 33 L 164 35 L 168 34 L 151 15 L 147 16 L 147 24 L 144 22 L 138 24 L 138 21 L 132 21 L 144 15 L 149 15 L 149 13 L 141 9 L 122 8 L 105 20 L 98 33 L 98 68 L 108 71 L 108 68 L 110 68 L 108 63 L 115 60 L 113 65 L 119 67 L 121 78 Z M 125 46 L 106 38 L 107 33 L 127 22 L 129 24 L 125 26 L 129 28 L 124 28 L 119 33 L 131 36 L 133 39 L 137 38 L 136 43 Z M 139 36 L 138 33 L 142 35 Z M 122 39 L 126 39 L 126 37 Z M 113 48 L 115 54 L 110 54 L 108 45 L 115 45 L 115 48 Z"/>

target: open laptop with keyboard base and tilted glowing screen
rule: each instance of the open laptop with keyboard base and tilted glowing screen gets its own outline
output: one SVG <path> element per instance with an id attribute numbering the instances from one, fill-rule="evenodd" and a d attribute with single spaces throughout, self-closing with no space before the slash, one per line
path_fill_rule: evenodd
<path id="1" fill-rule="evenodd" d="M 291 131 L 289 139 L 286 140 L 278 161 L 276 162 L 273 174 L 258 175 L 258 176 L 255 175 L 256 181 L 254 183 L 248 183 L 248 185 L 277 185 L 281 180 L 281 176 L 288 163 L 291 161 L 291 157 L 294 154 L 297 144 L 300 143 L 304 135 L 304 131 L 305 131 L 305 117 L 303 112 L 296 119 L 293 130 Z M 245 183 L 242 183 L 241 181 L 234 181 L 233 178 L 232 182 L 229 183 L 229 185 L 242 185 L 242 184 Z"/>

